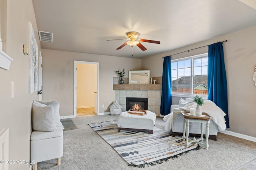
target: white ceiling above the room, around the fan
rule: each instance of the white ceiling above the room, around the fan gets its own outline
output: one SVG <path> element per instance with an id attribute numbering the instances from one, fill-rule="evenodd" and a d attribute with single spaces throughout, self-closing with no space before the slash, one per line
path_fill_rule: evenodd
<path id="1" fill-rule="evenodd" d="M 245 0 L 244 0 L 245 1 Z M 254 1 L 254 0 L 246 0 Z M 137 31 L 144 58 L 256 26 L 256 10 L 239 0 L 32 0 L 39 31 L 53 33 L 43 49 L 132 57 L 126 32 Z M 247 3 L 248 4 L 248 3 Z M 250 3 L 249 3 L 250 5 Z"/>

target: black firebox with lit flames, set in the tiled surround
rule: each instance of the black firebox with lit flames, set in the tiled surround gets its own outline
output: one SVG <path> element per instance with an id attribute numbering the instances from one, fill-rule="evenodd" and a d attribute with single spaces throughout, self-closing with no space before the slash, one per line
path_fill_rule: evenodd
<path id="1" fill-rule="evenodd" d="M 148 98 L 126 98 L 126 110 L 148 110 Z"/>

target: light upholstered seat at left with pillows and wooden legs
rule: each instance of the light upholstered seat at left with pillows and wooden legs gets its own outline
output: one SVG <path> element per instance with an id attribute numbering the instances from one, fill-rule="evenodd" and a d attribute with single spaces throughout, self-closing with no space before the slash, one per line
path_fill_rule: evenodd
<path id="1" fill-rule="evenodd" d="M 37 162 L 57 158 L 57 165 L 63 155 L 63 129 L 60 122 L 60 103 L 34 101 L 32 104 L 32 133 L 30 136 L 30 160 Z"/>

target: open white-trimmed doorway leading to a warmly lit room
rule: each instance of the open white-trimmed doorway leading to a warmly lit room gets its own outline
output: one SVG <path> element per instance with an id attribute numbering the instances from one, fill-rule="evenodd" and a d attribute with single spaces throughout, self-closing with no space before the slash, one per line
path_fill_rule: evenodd
<path id="1" fill-rule="evenodd" d="M 99 63 L 74 61 L 74 117 L 83 110 L 89 111 L 89 115 L 98 115 Z"/>

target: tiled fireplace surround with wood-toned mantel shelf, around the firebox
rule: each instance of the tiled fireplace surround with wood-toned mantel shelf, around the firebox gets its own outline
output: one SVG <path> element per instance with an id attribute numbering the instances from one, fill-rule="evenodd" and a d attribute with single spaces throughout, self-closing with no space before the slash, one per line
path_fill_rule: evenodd
<path id="1" fill-rule="evenodd" d="M 161 88 L 162 77 L 157 77 L 155 85 L 132 85 L 126 84 L 128 80 L 124 79 L 124 84 L 118 84 L 119 78 L 113 78 L 113 90 L 116 92 L 116 101 L 123 107 L 122 111 L 126 111 L 126 98 L 148 98 L 148 110 L 160 115 L 161 104 Z M 128 79 L 128 78 L 127 78 Z"/>

